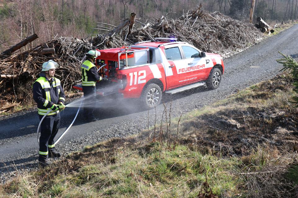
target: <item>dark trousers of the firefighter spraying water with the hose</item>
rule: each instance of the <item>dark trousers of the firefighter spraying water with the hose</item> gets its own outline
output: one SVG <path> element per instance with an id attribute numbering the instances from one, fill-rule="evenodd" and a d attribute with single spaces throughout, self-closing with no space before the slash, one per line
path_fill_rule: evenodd
<path id="1" fill-rule="evenodd" d="M 39 115 L 39 120 L 43 118 L 43 115 Z M 48 115 L 43 119 L 41 123 L 41 132 L 39 137 L 39 154 L 47 155 L 48 149 L 55 150 L 54 138 L 59 130 L 60 126 L 60 113 L 54 115 Z"/>

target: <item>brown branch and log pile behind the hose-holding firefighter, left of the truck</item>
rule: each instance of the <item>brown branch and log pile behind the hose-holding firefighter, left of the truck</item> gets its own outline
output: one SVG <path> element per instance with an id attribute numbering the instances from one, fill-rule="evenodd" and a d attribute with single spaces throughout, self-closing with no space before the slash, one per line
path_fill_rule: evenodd
<path id="1" fill-rule="evenodd" d="M 91 48 L 88 41 L 61 37 L 0 59 L 0 109 L 15 102 L 32 102 L 31 86 L 38 78 L 42 64 L 50 59 L 59 64 L 55 75 L 61 80 L 63 89 L 70 92 L 71 86 L 81 79 L 80 61 Z M 50 54 L 40 53 L 42 51 L 50 51 Z"/>

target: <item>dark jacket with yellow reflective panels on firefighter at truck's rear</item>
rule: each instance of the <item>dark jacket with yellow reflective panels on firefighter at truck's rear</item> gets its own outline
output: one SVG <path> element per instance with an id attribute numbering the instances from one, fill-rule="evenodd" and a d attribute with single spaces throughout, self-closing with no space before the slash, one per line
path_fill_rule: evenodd
<path id="1" fill-rule="evenodd" d="M 81 66 L 81 72 L 82 72 L 82 86 L 95 87 L 96 81 L 102 80 L 102 77 L 97 73 L 97 67 L 89 60 L 86 60 L 83 62 Z"/>

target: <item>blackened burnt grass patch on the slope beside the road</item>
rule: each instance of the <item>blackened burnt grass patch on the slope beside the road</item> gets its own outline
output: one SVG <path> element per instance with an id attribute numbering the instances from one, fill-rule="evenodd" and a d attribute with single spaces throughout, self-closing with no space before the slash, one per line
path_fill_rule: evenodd
<path id="1" fill-rule="evenodd" d="M 248 155 L 260 145 L 298 151 L 298 110 L 287 94 L 291 83 L 280 75 L 215 104 L 215 113 L 181 123 L 184 137 L 179 143 L 226 156 Z"/>

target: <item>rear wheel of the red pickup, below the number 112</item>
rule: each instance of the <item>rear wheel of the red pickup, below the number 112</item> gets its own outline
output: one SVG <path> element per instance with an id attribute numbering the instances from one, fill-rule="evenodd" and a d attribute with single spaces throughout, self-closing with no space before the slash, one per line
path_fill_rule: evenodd
<path id="1" fill-rule="evenodd" d="M 160 104 L 162 97 L 162 92 L 157 84 L 148 84 L 142 91 L 141 101 L 142 107 L 144 108 L 154 108 Z"/>

